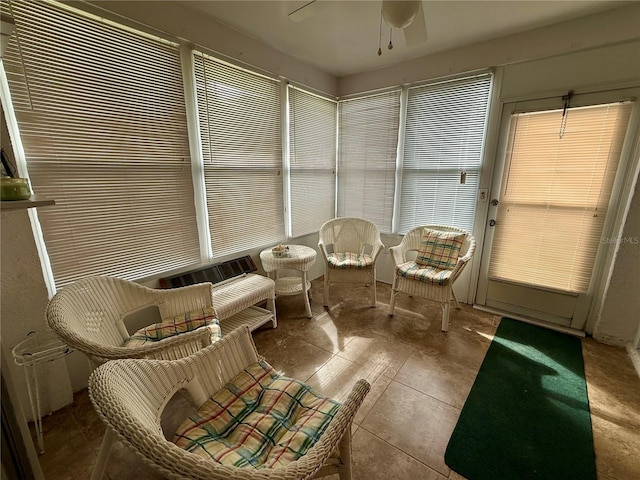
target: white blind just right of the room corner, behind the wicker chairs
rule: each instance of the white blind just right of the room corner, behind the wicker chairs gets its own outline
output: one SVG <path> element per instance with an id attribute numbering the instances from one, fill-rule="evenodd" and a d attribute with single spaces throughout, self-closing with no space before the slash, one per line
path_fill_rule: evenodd
<path id="1" fill-rule="evenodd" d="M 339 112 L 338 216 L 366 218 L 390 233 L 400 90 L 343 100 Z"/>

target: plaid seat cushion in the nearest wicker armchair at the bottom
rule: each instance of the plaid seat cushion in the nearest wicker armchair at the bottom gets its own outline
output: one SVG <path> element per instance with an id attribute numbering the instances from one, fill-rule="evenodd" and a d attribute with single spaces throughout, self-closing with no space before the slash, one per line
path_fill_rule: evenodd
<path id="1" fill-rule="evenodd" d="M 258 362 L 185 420 L 173 441 L 225 465 L 284 466 L 316 443 L 339 407 L 308 385 Z"/>

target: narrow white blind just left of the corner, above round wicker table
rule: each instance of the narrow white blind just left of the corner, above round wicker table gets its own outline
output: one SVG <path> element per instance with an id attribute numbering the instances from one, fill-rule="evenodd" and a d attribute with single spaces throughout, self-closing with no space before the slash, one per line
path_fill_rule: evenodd
<path id="1" fill-rule="evenodd" d="M 337 103 L 289 85 L 291 236 L 335 215 Z"/>

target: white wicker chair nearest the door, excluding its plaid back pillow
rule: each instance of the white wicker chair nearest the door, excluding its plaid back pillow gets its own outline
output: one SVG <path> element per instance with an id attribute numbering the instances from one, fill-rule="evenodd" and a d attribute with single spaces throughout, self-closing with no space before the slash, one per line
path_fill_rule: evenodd
<path id="1" fill-rule="evenodd" d="M 466 237 L 460 249 L 458 262 L 451 271 L 451 275 L 449 276 L 447 281 L 442 285 L 404 277 L 400 274 L 400 271 L 398 269 L 398 266 L 403 265 L 408 261 L 412 261 L 411 257 L 407 257 L 407 253 L 417 252 L 420 250 L 424 228 L 466 234 Z M 391 258 L 393 259 L 393 262 L 395 264 L 395 274 L 393 277 L 393 285 L 391 287 L 391 301 L 389 303 L 389 315 L 393 315 L 396 296 L 400 292 L 406 293 L 408 295 L 415 295 L 418 297 L 426 298 L 428 300 L 433 300 L 440 303 L 440 305 L 442 306 L 442 331 L 446 332 L 449 329 L 449 309 L 451 299 L 453 299 L 453 301 L 455 302 L 456 308 L 460 308 L 460 304 L 458 303 L 458 299 L 456 298 L 456 295 L 452 288 L 453 283 L 456 281 L 456 279 L 460 275 L 460 272 L 462 272 L 464 267 L 473 256 L 475 248 L 476 241 L 474 236 L 471 233 L 456 227 L 448 227 L 443 225 L 424 225 L 415 227 L 407 232 L 407 234 L 400 242 L 400 245 L 389 248 L 389 253 L 391 254 Z"/>

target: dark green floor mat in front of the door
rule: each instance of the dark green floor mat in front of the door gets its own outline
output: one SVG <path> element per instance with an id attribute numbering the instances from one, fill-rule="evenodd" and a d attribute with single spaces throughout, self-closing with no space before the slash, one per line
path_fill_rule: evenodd
<path id="1" fill-rule="evenodd" d="M 503 318 L 445 462 L 469 480 L 595 480 L 580 339 Z"/>

